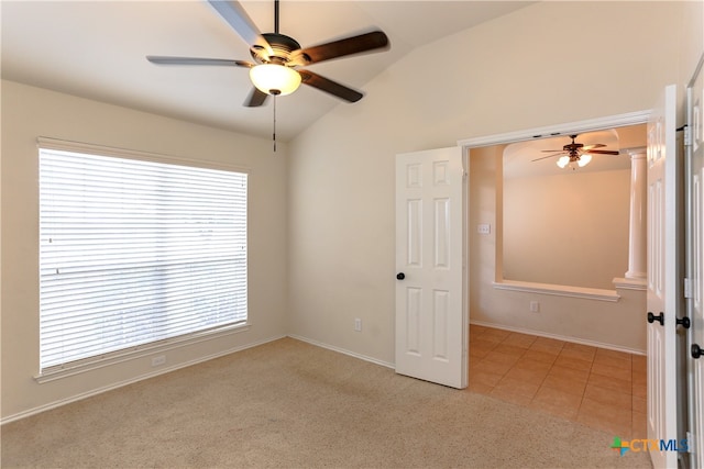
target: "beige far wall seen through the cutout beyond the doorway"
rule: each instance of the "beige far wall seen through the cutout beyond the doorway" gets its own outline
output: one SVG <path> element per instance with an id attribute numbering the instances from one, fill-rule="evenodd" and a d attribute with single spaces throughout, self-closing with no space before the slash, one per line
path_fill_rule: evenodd
<path id="1" fill-rule="evenodd" d="M 613 290 L 628 270 L 630 169 L 504 179 L 505 279 Z"/>

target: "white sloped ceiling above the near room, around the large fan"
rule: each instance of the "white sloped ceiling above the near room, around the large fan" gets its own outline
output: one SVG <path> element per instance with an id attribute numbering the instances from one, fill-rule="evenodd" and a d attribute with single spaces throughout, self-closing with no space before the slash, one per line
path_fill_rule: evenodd
<path id="1" fill-rule="evenodd" d="M 262 33 L 272 0 L 241 2 Z M 373 27 L 391 49 L 316 64 L 355 89 L 416 47 L 509 13 L 522 1 L 297 1 L 280 3 L 280 33 L 301 46 Z M 251 59 L 249 46 L 205 1 L 8 1 L 0 3 L 2 78 L 252 135 L 272 135 L 272 100 L 244 108 L 239 67 L 158 67 L 145 55 Z M 432 63 L 428 57 L 427 66 Z M 278 98 L 277 137 L 290 139 L 341 102 L 301 87 Z"/>

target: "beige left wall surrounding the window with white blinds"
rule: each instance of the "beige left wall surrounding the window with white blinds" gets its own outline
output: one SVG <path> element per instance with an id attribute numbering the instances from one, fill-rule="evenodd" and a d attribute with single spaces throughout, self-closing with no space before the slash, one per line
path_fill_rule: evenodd
<path id="1" fill-rule="evenodd" d="M 248 332 L 165 353 L 183 366 L 286 334 L 286 146 L 2 82 L 2 417 L 9 418 L 158 371 L 150 357 L 37 383 L 36 137 L 223 161 L 250 170 Z M 160 354 L 162 355 L 162 354 Z"/>

